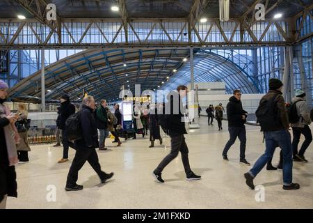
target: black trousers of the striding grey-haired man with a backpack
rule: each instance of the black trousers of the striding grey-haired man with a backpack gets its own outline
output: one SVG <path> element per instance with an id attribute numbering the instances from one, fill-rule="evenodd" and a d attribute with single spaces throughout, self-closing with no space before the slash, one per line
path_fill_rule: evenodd
<path id="1" fill-rule="evenodd" d="M 101 170 L 99 158 L 95 148 L 86 148 L 84 150 L 78 149 L 75 153 L 70 171 L 67 174 L 66 187 L 73 187 L 76 184 L 78 179 L 78 172 L 86 161 L 88 161 L 90 166 L 93 167 L 100 180 L 105 178 L 107 174 Z"/>

